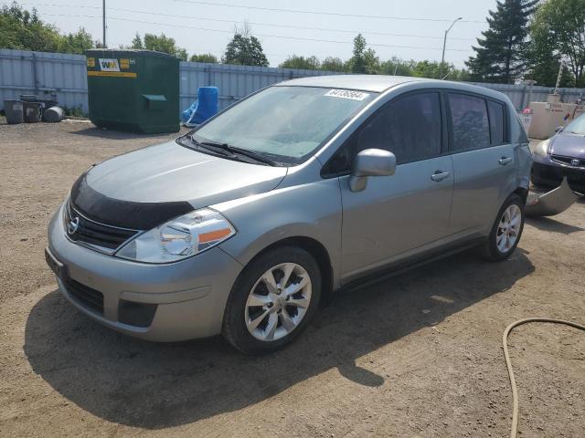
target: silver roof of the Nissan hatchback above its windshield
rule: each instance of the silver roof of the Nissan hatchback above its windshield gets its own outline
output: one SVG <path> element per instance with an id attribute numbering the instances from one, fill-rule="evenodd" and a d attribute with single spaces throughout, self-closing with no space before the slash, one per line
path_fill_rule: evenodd
<path id="1" fill-rule="evenodd" d="M 373 93 L 382 93 L 387 89 L 400 84 L 418 82 L 426 83 L 431 87 L 441 89 L 456 89 L 482 94 L 486 97 L 507 101 L 505 94 L 465 82 L 453 82 L 450 80 L 439 80 L 429 78 L 413 78 L 407 76 L 383 76 L 383 75 L 333 75 L 333 76 L 312 76 L 309 78 L 298 78 L 275 84 L 277 87 L 321 87 L 324 89 L 358 89 Z"/>

